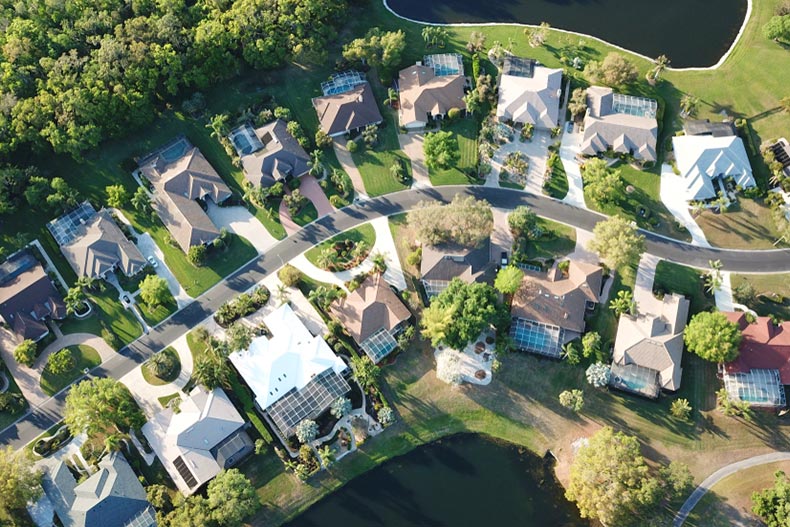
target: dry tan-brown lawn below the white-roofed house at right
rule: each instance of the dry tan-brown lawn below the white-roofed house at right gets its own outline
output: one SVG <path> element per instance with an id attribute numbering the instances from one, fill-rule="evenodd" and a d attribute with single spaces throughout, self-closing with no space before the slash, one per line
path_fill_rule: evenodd
<path id="1" fill-rule="evenodd" d="M 773 249 L 779 239 L 771 211 L 762 200 L 740 197 L 738 204 L 727 212 L 714 214 L 706 211 L 697 218 L 697 223 L 715 247 Z"/>

